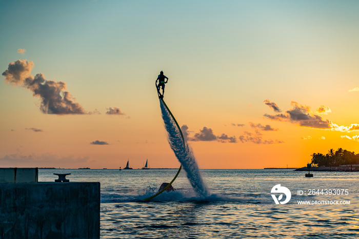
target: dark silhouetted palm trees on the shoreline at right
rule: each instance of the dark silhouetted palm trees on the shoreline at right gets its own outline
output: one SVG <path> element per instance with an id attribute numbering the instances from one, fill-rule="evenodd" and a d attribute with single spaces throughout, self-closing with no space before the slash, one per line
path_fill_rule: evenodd
<path id="1" fill-rule="evenodd" d="M 318 167 L 359 164 L 359 154 L 342 148 L 338 148 L 336 151 L 330 149 L 327 154 L 313 153 L 310 156 L 312 156 L 311 163 Z"/>

